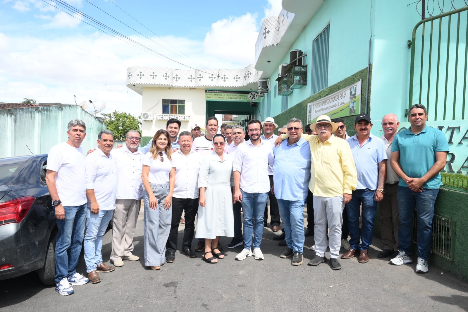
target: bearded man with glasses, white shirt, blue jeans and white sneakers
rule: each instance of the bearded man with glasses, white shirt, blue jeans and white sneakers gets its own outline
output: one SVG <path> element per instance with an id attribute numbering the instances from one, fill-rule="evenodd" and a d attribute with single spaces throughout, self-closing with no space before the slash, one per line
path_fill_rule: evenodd
<path id="1" fill-rule="evenodd" d="M 271 144 L 260 138 L 262 124 L 250 120 L 247 124 L 250 140 L 237 147 L 234 156 L 234 200 L 242 202 L 244 214 L 244 249 L 237 254 L 236 260 L 244 260 L 254 255 L 255 260 L 263 260 L 260 250 L 263 235 L 263 213 L 270 191 L 268 165 L 273 165 L 275 157 Z M 255 220 L 255 229 L 254 229 Z M 252 231 L 254 240 L 252 244 Z M 254 245 L 254 252 L 251 247 Z"/>

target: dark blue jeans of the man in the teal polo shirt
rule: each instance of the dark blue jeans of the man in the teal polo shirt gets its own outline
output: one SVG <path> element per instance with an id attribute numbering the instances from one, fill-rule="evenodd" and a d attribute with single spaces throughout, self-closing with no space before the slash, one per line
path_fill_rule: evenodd
<path id="1" fill-rule="evenodd" d="M 411 220 L 414 205 L 417 211 L 417 256 L 424 260 L 429 259 L 431 252 L 432 218 L 434 217 L 434 204 L 439 193 L 438 188 L 425 188 L 423 192 L 416 193 L 406 186 L 398 186 L 398 249 L 411 255 Z"/>

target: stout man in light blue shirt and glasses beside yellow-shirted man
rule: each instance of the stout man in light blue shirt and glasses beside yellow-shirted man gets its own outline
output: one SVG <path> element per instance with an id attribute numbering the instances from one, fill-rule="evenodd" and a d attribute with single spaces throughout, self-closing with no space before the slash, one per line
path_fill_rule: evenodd
<path id="1" fill-rule="evenodd" d="M 302 121 L 292 118 L 288 122 L 288 139 L 273 150 L 273 189 L 283 220 L 287 249 L 281 258 L 292 257 L 292 265 L 304 261 L 304 206 L 310 180 L 311 153 L 309 142 L 302 135 Z"/>

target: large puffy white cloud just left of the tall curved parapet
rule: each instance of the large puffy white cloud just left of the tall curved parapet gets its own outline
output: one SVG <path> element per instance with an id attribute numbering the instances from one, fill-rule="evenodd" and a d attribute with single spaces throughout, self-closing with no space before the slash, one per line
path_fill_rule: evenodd
<path id="1" fill-rule="evenodd" d="M 243 63 L 244 66 L 251 64 L 258 36 L 256 18 L 256 15 L 247 13 L 213 23 L 205 37 L 205 53 Z"/>

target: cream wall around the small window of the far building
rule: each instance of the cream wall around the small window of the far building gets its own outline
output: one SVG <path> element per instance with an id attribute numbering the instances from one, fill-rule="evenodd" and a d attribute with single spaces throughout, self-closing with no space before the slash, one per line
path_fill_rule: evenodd
<path id="1" fill-rule="evenodd" d="M 205 89 L 190 88 L 143 88 L 142 111 L 152 111 L 153 121 L 142 121 L 142 136 L 153 137 L 159 129 L 166 129 L 167 120 L 158 120 L 156 114 L 162 114 L 162 99 L 185 100 L 185 115 L 189 121 L 181 121 L 181 130 L 188 130 L 190 125 L 205 127 Z M 142 142 L 143 143 L 143 142 Z"/>

